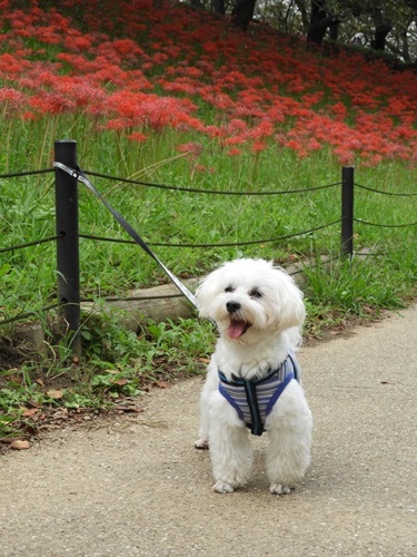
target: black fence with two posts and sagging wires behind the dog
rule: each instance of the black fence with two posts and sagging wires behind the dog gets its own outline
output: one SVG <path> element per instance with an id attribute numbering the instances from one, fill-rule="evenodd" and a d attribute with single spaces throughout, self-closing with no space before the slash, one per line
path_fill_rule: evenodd
<path id="1" fill-rule="evenodd" d="M 44 244 L 49 242 L 54 242 L 57 245 L 57 303 L 50 304 L 48 306 L 42 307 L 40 311 L 49 311 L 52 309 L 60 309 L 60 312 L 63 316 L 63 321 L 66 322 L 70 332 L 72 332 L 72 346 L 75 352 L 80 351 L 80 304 L 85 300 L 81 299 L 80 295 L 80 265 L 79 265 L 79 238 L 88 238 L 96 242 L 115 242 L 115 243 L 123 243 L 123 244 L 135 244 L 133 240 L 123 240 L 123 238 L 112 238 L 112 237 L 102 237 L 95 236 L 89 234 L 79 233 L 79 218 L 78 218 L 78 179 L 80 174 L 78 173 L 79 167 L 77 163 L 77 143 L 72 140 L 62 140 L 56 141 L 54 144 L 54 157 L 56 164 L 63 165 L 67 169 L 73 169 L 73 174 L 62 170 L 61 168 L 47 168 L 43 170 L 31 170 L 31 172 L 20 172 L 13 174 L 3 174 L 0 175 L 0 179 L 6 178 L 19 178 L 22 176 L 31 176 L 39 174 L 47 174 L 54 172 L 54 195 L 56 195 L 56 235 L 39 238 L 37 241 L 22 243 L 19 245 L 12 245 L 0 248 L 0 254 L 16 252 L 18 250 L 23 250 L 30 246 Z M 81 173 L 82 174 L 82 173 Z M 277 243 L 284 242 L 289 238 L 305 236 L 306 234 L 311 234 L 314 232 L 322 231 L 325 228 L 339 225 L 340 226 L 340 255 L 342 257 L 351 257 L 354 254 L 354 225 L 358 223 L 360 225 L 366 226 L 379 226 L 384 228 L 403 228 L 403 227 L 413 227 L 417 226 L 417 222 L 415 223 L 406 223 L 406 224 L 379 224 L 371 223 L 367 221 L 363 221 L 355 216 L 355 188 L 360 188 L 366 192 L 370 192 L 373 194 L 379 195 L 389 195 L 397 197 L 415 197 L 417 194 L 405 194 L 405 193 L 391 193 L 384 192 L 379 189 L 375 189 L 368 186 L 360 185 L 355 182 L 355 168 L 354 167 L 342 167 L 341 169 L 341 180 L 332 184 L 310 187 L 310 188 L 300 188 L 300 189 L 285 189 L 285 190 L 268 190 L 268 192 L 225 192 L 225 190 L 214 190 L 214 189 L 198 189 L 191 187 L 177 187 L 168 184 L 153 184 L 149 182 L 135 180 L 130 178 L 120 178 L 110 176 L 107 174 L 99 174 L 96 172 L 85 172 L 85 175 L 105 178 L 112 182 L 118 183 L 128 183 L 136 184 L 149 188 L 160 188 L 168 189 L 175 192 L 186 192 L 192 193 L 196 195 L 222 195 L 222 196 L 276 196 L 276 195 L 295 195 L 295 194 L 304 194 L 311 193 L 319 189 L 326 188 L 340 188 L 340 205 L 341 213 L 340 218 L 337 221 L 332 221 L 315 228 L 299 231 L 297 233 L 288 234 L 285 236 L 274 237 L 274 238 L 264 238 L 264 240 L 248 240 L 246 242 L 232 242 L 232 243 L 207 243 L 207 244 L 188 244 L 188 243 L 162 243 L 155 242 L 149 243 L 149 246 L 163 246 L 169 248 L 214 248 L 214 247 L 227 247 L 227 246 L 245 246 L 245 245 L 256 245 L 256 244 L 266 244 L 266 243 Z M 149 250 L 150 251 L 150 250 Z M 181 294 L 173 295 L 163 295 L 163 296 L 149 296 L 149 297 L 140 297 L 140 299 L 123 299 L 127 300 L 150 300 L 158 297 L 178 297 Z M 108 299 L 109 301 L 120 300 L 120 299 Z M 8 323 L 13 323 L 16 321 L 27 320 L 33 314 L 38 312 L 29 311 L 26 313 L 19 313 L 17 315 L 3 319 L 0 321 L 0 325 L 4 325 Z M 78 348 L 77 348 L 78 345 Z"/>

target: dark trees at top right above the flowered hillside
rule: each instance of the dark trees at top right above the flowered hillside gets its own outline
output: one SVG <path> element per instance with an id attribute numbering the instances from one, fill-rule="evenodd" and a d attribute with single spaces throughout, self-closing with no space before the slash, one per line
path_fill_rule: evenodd
<path id="1" fill-rule="evenodd" d="M 230 14 L 238 27 L 266 22 L 312 43 L 326 39 L 417 60 L 417 0 L 190 0 Z"/>

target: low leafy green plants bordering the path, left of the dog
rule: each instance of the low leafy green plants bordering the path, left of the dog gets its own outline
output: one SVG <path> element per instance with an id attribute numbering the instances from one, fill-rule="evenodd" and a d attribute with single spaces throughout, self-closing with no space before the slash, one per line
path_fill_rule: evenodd
<path id="1" fill-rule="evenodd" d="M 202 373 L 205 356 L 214 343 L 214 331 L 207 322 L 149 321 L 137 335 L 106 312 L 87 319 L 81 334 L 81 362 L 71 363 L 69 358 L 64 367 L 62 360 L 49 356 L 42 361 L 27 359 L 0 373 L 0 439 L 36 430 L 40 413 L 48 409 L 110 409 L 117 401 L 143 394 L 151 387 Z M 53 354 L 59 350 L 50 345 Z"/>

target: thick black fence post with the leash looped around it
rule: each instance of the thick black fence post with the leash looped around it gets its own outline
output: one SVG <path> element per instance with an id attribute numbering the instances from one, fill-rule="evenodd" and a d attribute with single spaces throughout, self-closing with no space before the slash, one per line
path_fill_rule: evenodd
<path id="1" fill-rule="evenodd" d="M 77 141 L 54 141 L 54 159 L 71 168 L 77 167 Z M 80 335 L 80 257 L 78 235 L 78 183 L 56 168 L 56 226 L 58 302 L 60 325 L 69 331 L 69 348 L 81 356 Z"/>

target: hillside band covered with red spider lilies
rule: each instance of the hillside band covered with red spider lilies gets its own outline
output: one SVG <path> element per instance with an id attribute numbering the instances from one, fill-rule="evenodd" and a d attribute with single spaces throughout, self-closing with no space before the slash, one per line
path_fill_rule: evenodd
<path id="1" fill-rule="evenodd" d="M 132 144 L 173 130 L 175 150 L 196 157 L 211 145 L 234 157 L 327 149 L 342 165 L 416 165 L 411 70 L 150 0 L 0 4 L 3 126 L 82 117 Z"/>

